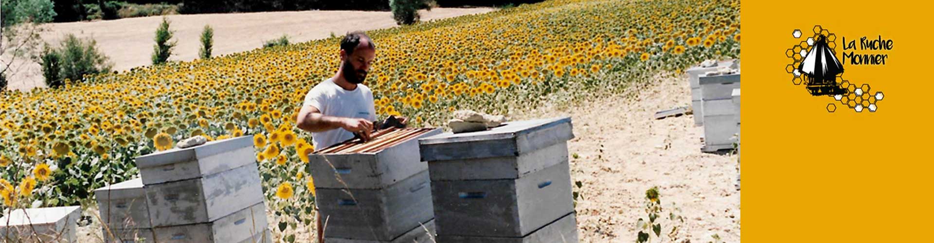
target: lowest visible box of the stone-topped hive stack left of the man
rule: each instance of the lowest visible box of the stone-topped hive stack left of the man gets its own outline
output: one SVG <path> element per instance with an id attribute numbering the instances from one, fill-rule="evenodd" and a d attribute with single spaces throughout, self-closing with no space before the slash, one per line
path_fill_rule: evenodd
<path id="1" fill-rule="evenodd" d="M 156 227 L 159 242 L 259 242 L 268 227 L 266 207 L 262 203 L 246 207 L 217 221 Z"/>

